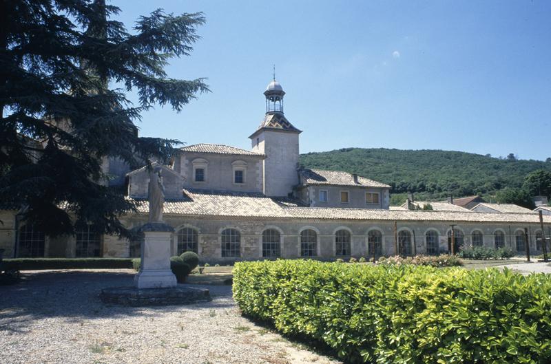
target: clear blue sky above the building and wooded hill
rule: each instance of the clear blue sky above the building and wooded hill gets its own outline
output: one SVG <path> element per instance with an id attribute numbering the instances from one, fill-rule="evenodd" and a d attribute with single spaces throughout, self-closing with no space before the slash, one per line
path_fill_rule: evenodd
<path id="1" fill-rule="evenodd" d="M 128 27 L 156 8 L 205 13 L 174 78 L 207 77 L 143 136 L 249 149 L 276 78 L 300 151 L 445 149 L 551 157 L 551 1 L 113 0 Z M 131 97 L 135 99 L 134 97 Z"/>

